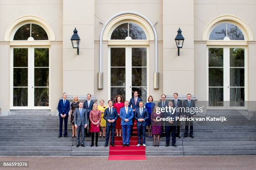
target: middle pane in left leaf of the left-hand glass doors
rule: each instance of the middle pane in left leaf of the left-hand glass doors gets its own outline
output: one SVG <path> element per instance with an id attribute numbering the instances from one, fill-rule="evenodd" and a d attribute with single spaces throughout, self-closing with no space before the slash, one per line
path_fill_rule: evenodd
<path id="1" fill-rule="evenodd" d="M 28 68 L 13 68 L 13 87 L 28 87 Z"/>

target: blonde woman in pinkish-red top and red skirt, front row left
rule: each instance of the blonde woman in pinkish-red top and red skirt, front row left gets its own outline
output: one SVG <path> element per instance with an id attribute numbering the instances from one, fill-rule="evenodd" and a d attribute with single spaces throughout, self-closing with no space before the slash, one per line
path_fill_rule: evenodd
<path id="1" fill-rule="evenodd" d="M 92 145 L 94 145 L 94 133 L 96 133 L 96 140 L 95 140 L 95 146 L 98 146 L 98 138 L 99 138 L 99 132 L 100 132 L 100 120 L 101 120 L 101 112 L 100 110 L 97 110 L 97 103 L 95 102 L 92 106 L 92 110 L 90 111 L 90 129 L 89 131 L 92 133 Z"/>

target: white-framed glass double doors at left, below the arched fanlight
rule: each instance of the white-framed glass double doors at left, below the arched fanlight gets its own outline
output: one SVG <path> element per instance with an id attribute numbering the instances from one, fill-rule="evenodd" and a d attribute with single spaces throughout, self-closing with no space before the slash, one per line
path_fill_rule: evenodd
<path id="1" fill-rule="evenodd" d="M 49 47 L 12 47 L 11 54 L 11 109 L 49 109 Z"/>

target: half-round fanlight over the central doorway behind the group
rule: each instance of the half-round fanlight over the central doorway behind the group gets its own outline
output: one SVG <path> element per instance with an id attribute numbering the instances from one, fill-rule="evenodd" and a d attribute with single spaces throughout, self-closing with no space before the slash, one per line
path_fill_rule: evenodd
<path id="1" fill-rule="evenodd" d="M 144 30 L 135 23 L 123 23 L 112 32 L 110 40 L 146 40 Z"/>

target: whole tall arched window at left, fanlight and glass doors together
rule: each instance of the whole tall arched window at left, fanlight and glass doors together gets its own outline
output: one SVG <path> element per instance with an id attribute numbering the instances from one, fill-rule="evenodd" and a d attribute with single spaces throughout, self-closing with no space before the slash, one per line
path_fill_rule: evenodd
<path id="1" fill-rule="evenodd" d="M 49 108 L 50 49 L 45 40 L 49 37 L 38 22 L 26 21 L 13 29 L 12 42 L 19 43 L 11 46 L 13 109 Z"/>

